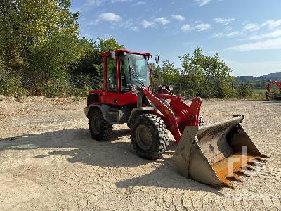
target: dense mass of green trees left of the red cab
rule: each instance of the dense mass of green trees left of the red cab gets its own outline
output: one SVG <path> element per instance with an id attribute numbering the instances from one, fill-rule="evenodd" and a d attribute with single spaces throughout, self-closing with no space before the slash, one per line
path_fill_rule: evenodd
<path id="1" fill-rule="evenodd" d="M 84 95 L 114 38 L 79 38 L 70 0 L 0 1 L 0 94 Z M 93 84 L 94 86 L 95 84 Z"/>

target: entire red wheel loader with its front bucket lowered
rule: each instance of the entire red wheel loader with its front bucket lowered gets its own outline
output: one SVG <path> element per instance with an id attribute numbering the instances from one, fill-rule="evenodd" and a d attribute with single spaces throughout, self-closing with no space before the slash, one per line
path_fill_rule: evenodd
<path id="1" fill-rule="evenodd" d="M 155 160 L 166 151 L 170 131 L 178 143 L 174 161 L 179 172 L 212 186 L 232 187 L 231 181 L 240 181 L 245 170 L 266 158 L 242 128 L 244 115 L 204 125 L 199 115 L 202 98 L 188 105 L 171 86 L 152 91 L 150 60 L 158 63 L 159 56 L 126 49 L 101 56 L 103 89 L 90 91 L 85 108 L 96 141 L 110 139 L 113 124 L 126 123 L 136 154 Z"/>

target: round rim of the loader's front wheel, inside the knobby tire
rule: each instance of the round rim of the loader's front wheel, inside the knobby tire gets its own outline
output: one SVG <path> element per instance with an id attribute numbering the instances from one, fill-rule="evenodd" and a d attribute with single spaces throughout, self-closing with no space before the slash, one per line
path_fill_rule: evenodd
<path id="1" fill-rule="evenodd" d="M 143 151 L 148 150 L 152 146 L 152 134 L 145 125 L 139 125 L 136 128 L 136 142 Z"/>

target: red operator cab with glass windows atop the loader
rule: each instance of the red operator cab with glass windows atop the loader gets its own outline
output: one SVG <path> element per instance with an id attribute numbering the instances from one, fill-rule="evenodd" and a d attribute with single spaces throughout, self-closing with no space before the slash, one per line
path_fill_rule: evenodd
<path id="1" fill-rule="evenodd" d="M 107 51 L 103 56 L 103 90 L 90 91 L 98 94 L 96 103 L 124 106 L 137 103 L 137 96 L 132 93 L 136 87 L 150 87 L 152 72 L 148 60 L 150 53 L 137 53 L 119 49 Z M 154 56 L 158 63 L 159 56 Z"/>

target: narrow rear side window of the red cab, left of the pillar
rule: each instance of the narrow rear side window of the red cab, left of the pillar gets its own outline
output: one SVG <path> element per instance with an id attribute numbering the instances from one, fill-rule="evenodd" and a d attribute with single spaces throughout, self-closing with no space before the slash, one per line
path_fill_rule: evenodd
<path id="1" fill-rule="evenodd" d="M 117 92 L 117 67 L 116 60 L 107 57 L 107 91 Z"/>

